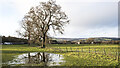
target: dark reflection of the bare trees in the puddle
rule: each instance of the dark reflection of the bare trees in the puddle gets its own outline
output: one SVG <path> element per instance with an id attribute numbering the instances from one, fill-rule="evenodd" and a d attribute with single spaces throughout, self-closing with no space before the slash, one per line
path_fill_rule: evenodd
<path id="1" fill-rule="evenodd" d="M 50 54 L 47 53 L 40 53 L 38 52 L 37 54 L 30 55 L 30 52 L 28 53 L 28 62 L 30 64 L 39 64 L 41 62 L 44 62 L 45 65 L 47 64 L 47 62 L 52 61 L 52 58 L 50 57 Z"/>

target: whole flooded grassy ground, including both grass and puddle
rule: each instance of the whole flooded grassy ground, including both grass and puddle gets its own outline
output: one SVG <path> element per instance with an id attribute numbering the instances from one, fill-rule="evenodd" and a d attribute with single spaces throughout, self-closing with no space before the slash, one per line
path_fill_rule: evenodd
<path id="1" fill-rule="evenodd" d="M 34 58 L 30 63 L 28 63 L 29 52 L 30 56 Z M 38 52 L 40 52 L 41 55 L 45 52 L 45 55 L 49 54 L 49 57 L 55 56 L 56 58 L 54 57 L 54 59 L 52 59 L 53 61 L 50 61 L 51 59 L 49 58 L 45 60 L 46 62 L 43 62 L 42 57 L 39 57 L 38 61 L 36 60 L 37 58 L 35 58 Z M 16 60 L 21 55 L 23 56 L 20 57 L 21 61 Z M 60 58 L 57 58 L 59 56 Z M 22 58 L 24 60 L 22 60 Z M 118 45 L 55 44 L 48 45 L 45 49 L 27 45 L 3 45 L 2 47 L 3 66 L 118 66 L 120 63 L 118 62 L 118 58 Z"/>

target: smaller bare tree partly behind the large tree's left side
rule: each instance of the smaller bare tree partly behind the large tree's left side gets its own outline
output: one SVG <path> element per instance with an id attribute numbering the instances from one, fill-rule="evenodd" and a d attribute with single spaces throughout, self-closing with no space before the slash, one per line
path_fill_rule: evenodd
<path id="1" fill-rule="evenodd" d="M 21 35 L 24 38 L 28 38 L 28 45 L 31 44 L 31 40 L 33 39 L 33 36 L 35 37 L 35 27 L 34 27 L 34 20 L 31 13 L 32 9 L 24 16 L 24 18 L 21 21 L 21 30 L 18 30 L 17 33 Z"/>

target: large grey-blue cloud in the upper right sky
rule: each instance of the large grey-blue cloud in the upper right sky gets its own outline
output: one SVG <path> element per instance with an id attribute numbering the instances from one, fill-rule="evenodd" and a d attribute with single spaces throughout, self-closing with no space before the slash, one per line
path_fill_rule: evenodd
<path id="1" fill-rule="evenodd" d="M 81 4 L 81 3 L 80 3 Z M 71 8 L 72 25 L 82 27 L 111 26 L 117 23 L 117 3 L 87 3 Z"/>

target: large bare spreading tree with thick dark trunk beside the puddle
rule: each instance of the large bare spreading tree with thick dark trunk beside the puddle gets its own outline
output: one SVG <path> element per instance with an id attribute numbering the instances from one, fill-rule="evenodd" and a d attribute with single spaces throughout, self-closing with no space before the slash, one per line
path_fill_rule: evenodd
<path id="1" fill-rule="evenodd" d="M 50 29 L 54 32 L 58 31 L 63 34 L 64 25 L 69 22 L 65 12 L 61 11 L 60 5 L 55 1 L 41 2 L 40 5 L 34 8 L 36 17 L 36 26 L 42 33 L 43 48 L 45 48 L 45 40 Z"/>

